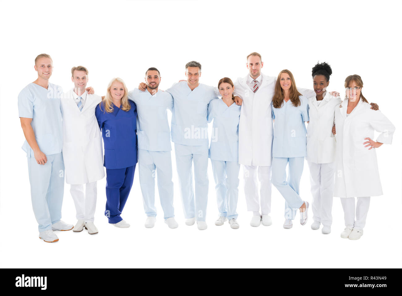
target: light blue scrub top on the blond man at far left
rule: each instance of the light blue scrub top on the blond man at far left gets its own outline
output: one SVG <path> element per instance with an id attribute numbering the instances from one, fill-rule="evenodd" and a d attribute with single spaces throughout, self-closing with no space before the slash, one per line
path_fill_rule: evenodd
<path id="1" fill-rule="evenodd" d="M 18 95 L 18 116 L 32 118 L 31 126 L 39 149 L 45 155 L 62 152 L 63 125 L 60 111 L 61 86 L 49 83 L 46 88 L 30 83 Z M 35 157 L 25 140 L 23 150 L 27 157 Z"/>

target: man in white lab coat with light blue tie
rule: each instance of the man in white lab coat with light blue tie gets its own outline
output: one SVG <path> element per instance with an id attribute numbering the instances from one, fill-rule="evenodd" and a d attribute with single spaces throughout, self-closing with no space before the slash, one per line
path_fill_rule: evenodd
<path id="1" fill-rule="evenodd" d="M 102 99 L 85 90 L 88 82 L 85 67 L 73 67 L 71 76 L 74 88 L 64 93 L 61 110 L 66 183 L 71 185 L 78 219 L 73 231 L 79 232 L 85 227 L 89 234 L 95 234 L 98 233 L 94 224 L 96 181 L 105 177 L 102 135 L 95 117 L 95 108 Z"/>

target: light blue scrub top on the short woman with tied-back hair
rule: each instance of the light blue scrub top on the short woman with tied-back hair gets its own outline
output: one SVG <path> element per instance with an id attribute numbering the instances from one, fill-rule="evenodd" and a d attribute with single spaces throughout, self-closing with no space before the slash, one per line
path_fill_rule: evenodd
<path id="1" fill-rule="evenodd" d="M 209 103 L 208 122 L 213 119 L 209 158 L 238 162 L 240 108 L 236 103 L 228 107 L 221 99 Z"/>

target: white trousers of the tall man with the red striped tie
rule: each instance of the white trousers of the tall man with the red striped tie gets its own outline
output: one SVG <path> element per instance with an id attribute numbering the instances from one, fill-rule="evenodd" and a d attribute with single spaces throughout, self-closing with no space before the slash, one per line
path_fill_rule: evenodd
<path id="1" fill-rule="evenodd" d="M 260 201 L 258 198 L 258 180 L 260 181 Z M 246 196 L 247 210 L 268 215 L 271 213 L 271 166 L 243 166 L 244 195 Z"/>

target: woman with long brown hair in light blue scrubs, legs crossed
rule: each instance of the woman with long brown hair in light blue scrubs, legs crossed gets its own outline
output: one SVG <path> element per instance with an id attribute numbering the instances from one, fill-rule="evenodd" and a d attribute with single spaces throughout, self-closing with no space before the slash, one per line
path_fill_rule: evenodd
<path id="1" fill-rule="evenodd" d="M 307 222 L 308 202 L 299 196 L 301 173 L 306 156 L 308 100 L 296 88 L 293 74 L 282 70 L 277 78 L 272 99 L 274 139 L 272 148 L 272 184 L 285 198 L 284 228 L 292 228 L 297 209 L 300 224 Z M 286 166 L 289 163 L 289 176 Z"/>

